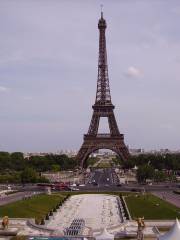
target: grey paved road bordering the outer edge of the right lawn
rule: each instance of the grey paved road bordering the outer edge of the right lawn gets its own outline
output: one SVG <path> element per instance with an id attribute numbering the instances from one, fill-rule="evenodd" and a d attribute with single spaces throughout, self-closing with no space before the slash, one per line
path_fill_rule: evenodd
<path id="1" fill-rule="evenodd" d="M 180 208 L 180 195 L 173 193 L 172 191 L 153 192 L 153 194 L 169 203 L 172 203 L 176 207 Z"/>

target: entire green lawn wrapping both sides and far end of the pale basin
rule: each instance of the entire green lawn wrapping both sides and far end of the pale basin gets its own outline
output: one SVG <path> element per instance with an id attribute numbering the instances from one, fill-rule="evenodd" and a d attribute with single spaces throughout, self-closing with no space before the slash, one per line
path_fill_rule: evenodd
<path id="1" fill-rule="evenodd" d="M 74 194 L 89 194 L 90 192 L 71 192 Z M 177 208 L 151 194 L 139 195 L 123 192 L 91 192 L 95 194 L 125 195 L 131 217 L 145 219 L 175 219 L 180 218 L 180 208 Z M 67 192 L 52 195 L 37 195 L 31 199 L 21 200 L 0 206 L 0 217 L 5 215 L 14 218 L 42 218 L 52 210 L 67 195 Z M 138 197 L 136 197 L 138 195 Z"/>

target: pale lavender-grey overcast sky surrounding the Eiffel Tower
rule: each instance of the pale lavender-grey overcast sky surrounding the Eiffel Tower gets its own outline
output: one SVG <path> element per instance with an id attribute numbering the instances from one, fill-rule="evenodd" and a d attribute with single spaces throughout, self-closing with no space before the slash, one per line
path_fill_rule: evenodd
<path id="1" fill-rule="evenodd" d="M 95 101 L 101 3 L 125 143 L 180 149 L 179 0 L 0 0 L 0 150 L 80 148 Z"/>

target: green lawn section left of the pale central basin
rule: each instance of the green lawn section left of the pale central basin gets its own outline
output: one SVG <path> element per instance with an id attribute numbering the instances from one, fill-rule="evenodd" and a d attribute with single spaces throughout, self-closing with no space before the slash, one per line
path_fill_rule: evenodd
<path id="1" fill-rule="evenodd" d="M 65 195 L 36 195 L 31 199 L 21 200 L 0 206 L 0 217 L 9 216 L 14 218 L 42 218 L 60 201 Z"/>

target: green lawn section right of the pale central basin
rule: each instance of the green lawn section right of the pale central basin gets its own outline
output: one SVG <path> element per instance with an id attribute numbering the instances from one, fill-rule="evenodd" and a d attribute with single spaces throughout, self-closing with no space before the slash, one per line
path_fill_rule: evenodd
<path id="1" fill-rule="evenodd" d="M 132 218 L 175 219 L 180 218 L 180 208 L 173 206 L 151 194 L 127 196 L 126 204 Z"/>

